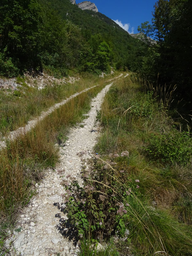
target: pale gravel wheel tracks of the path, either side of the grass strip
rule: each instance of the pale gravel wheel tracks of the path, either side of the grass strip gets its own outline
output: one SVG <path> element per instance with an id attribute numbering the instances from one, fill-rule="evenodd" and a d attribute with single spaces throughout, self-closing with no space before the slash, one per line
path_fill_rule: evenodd
<path id="1" fill-rule="evenodd" d="M 37 194 L 32 198 L 29 205 L 23 210 L 19 221 L 17 222 L 17 231 L 6 240 L 6 247 L 10 247 L 10 255 L 76 255 L 78 248 L 73 241 L 64 235 L 67 230 L 63 230 L 60 221 L 66 220 L 67 216 L 62 212 L 65 204 L 62 204 L 62 194 L 65 193 L 63 186 L 60 184 L 64 179 L 71 181 L 72 179 L 82 182 L 80 175 L 80 158 L 76 155 L 81 150 L 88 151 L 88 158 L 91 158 L 92 148 L 96 143 L 98 136 L 98 128 L 95 123 L 97 109 L 100 109 L 105 93 L 112 84 L 108 84 L 91 102 L 91 110 L 88 118 L 84 120 L 84 127 L 72 128 L 68 135 L 68 141 L 64 147 L 60 147 L 60 163 L 56 169 L 48 170 L 41 184 L 36 184 Z M 87 91 L 89 89 L 84 90 Z M 74 95 L 78 95 L 76 93 Z M 75 97 L 72 95 L 69 99 Z M 69 99 L 56 104 L 53 109 L 65 104 Z M 46 112 L 44 115 L 51 113 Z M 39 118 L 33 122 L 37 122 Z M 28 124 L 26 129 L 35 125 Z M 23 129 L 23 127 L 22 127 Z M 15 136 L 15 135 L 14 135 Z M 56 145 L 57 146 L 57 145 Z M 60 205 L 60 207 L 58 207 Z M 58 254 L 60 253 L 60 254 Z"/>

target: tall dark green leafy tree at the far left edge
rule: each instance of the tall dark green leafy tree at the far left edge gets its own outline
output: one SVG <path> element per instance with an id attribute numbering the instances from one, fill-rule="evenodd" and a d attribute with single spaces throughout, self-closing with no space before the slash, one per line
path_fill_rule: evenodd
<path id="1" fill-rule="evenodd" d="M 1 1 L 0 52 L 18 66 L 38 65 L 40 9 L 36 0 Z"/>

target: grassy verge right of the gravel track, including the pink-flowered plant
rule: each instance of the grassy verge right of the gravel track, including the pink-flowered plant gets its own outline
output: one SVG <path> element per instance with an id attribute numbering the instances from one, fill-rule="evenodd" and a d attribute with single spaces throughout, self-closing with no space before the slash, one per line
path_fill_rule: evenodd
<path id="1" fill-rule="evenodd" d="M 129 76 L 109 90 L 99 156 L 83 167 L 84 188 L 67 187 L 79 255 L 192 255 L 192 139 L 167 109 Z M 98 242 L 109 247 L 90 249 Z"/>

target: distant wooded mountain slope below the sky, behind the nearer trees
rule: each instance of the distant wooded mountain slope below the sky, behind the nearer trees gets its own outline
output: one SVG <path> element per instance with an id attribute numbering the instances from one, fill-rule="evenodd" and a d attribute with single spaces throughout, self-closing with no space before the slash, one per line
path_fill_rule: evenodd
<path id="1" fill-rule="evenodd" d="M 129 69 L 137 69 L 133 67 L 133 63 L 136 57 L 135 54 L 141 55 L 142 42 L 132 38 L 115 21 L 100 12 L 82 11 L 76 4 L 72 4 L 70 0 L 39 1 L 57 11 L 63 20 L 69 20 L 78 25 L 86 39 L 89 39 L 93 34 L 100 34 L 110 44 L 116 63 L 121 62 Z"/>

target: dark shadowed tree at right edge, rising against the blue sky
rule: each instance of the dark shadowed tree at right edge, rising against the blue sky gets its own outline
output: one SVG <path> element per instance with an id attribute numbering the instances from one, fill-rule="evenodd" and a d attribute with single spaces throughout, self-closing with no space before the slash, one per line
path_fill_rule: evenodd
<path id="1" fill-rule="evenodd" d="M 157 58 L 162 83 L 177 84 L 176 97 L 191 104 L 192 92 L 192 1 L 158 0 L 154 28 L 158 40 Z"/>

